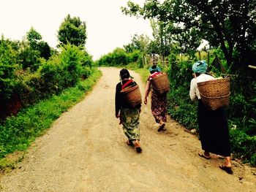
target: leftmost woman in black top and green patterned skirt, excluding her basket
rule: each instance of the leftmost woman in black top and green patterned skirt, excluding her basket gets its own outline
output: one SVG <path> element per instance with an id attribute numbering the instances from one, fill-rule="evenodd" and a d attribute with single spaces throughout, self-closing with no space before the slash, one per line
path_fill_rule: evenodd
<path id="1" fill-rule="evenodd" d="M 127 69 L 121 69 L 119 76 L 121 82 L 116 85 L 116 118 L 120 118 L 120 123 L 123 124 L 124 134 L 128 138 L 127 145 L 135 145 L 137 153 L 141 153 L 139 127 L 141 104 L 132 107 L 121 95 L 121 90 L 128 86 L 137 85 L 137 83 L 130 79 Z"/>

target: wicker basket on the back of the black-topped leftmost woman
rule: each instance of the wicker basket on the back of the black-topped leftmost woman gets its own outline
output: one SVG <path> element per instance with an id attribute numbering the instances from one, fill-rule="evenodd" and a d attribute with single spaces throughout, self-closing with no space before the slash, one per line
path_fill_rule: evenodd
<path id="1" fill-rule="evenodd" d="M 138 85 L 128 86 L 121 90 L 123 98 L 131 107 L 136 107 L 141 104 L 141 94 Z"/>

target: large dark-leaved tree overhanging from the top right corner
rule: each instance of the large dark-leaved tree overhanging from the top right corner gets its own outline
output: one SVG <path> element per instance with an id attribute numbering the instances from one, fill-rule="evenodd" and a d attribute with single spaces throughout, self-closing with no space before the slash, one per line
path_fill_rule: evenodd
<path id="1" fill-rule="evenodd" d="M 122 11 L 126 15 L 157 18 L 165 26 L 171 21 L 177 30 L 194 30 L 210 45 L 220 45 L 231 66 L 235 50 L 243 64 L 256 63 L 255 7 L 256 0 L 165 0 L 162 4 L 146 0 L 143 7 L 129 1 Z"/>

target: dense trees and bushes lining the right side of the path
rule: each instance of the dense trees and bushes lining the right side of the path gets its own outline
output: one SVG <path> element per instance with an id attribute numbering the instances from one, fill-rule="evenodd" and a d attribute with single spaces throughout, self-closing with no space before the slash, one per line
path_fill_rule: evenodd
<path id="1" fill-rule="evenodd" d="M 227 116 L 232 151 L 256 165 L 256 1 L 146 0 L 143 6 L 128 1 L 125 15 L 151 19 L 154 39 L 148 53 L 168 58 L 172 87 L 169 112 L 187 128 L 197 128 L 195 103 L 189 99 L 191 66 L 195 54 L 207 40 L 209 70 L 231 79 Z M 206 49 L 206 47 L 205 47 Z M 167 52 L 167 53 L 165 53 Z"/>

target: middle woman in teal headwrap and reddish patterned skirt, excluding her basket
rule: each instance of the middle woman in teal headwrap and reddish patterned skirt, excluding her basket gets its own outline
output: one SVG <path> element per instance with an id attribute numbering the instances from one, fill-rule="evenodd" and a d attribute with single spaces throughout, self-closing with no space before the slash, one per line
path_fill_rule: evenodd
<path id="1" fill-rule="evenodd" d="M 148 103 L 148 94 L 151 91 L 151 112 L 154 116 L 154 119 L 159 123 L 159 128 L 157 131 L 162 131 L 165 128 L 165 123 L 167 120 L 167 93 L 158 94 L 157 91 L 151 89 L 151 79 L 161 74 L 161 69 L 159 66 L 151 66 L 149 68 L 151 75 L 148 76 L 146 83 L 146 93 L 144 98 L 144 104 Z"/>

